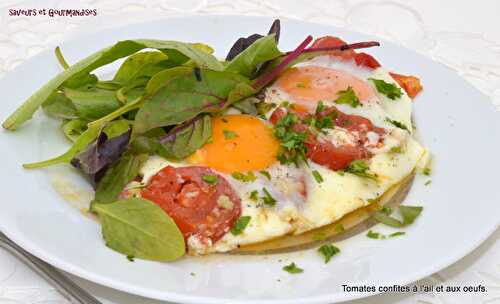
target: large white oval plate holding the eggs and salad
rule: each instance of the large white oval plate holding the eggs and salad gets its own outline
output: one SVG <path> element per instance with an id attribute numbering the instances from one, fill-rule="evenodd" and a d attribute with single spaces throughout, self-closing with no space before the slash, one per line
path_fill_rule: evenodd
<path id="1" fill-rule="evenodd" d="M 264 33 L 271 19 L 197 16 L 126 26 L 63 43 L 70 62 L 120 39 L 158 38 L 206 42 L 224 56 L 242 35 Z M 347 41 L 373 37 L 343 29 L 282 22 L 280 47 L 293 49 L 304 37 L 337 35 Z M 99 224 L 70 200 L 85 200 L 90 187 L 68 166 L 28 171 L 21 164 L 62 152 L 67 142 L 58 124 L 42 115 L 17 132 L 0 132 L 0 227 L 39 258 L 75 275 L 146 297 L 188 303 L 333 303 L 369 295 L 343 292 L 342 285 L 408 284 L 457 261 L 499 225 L 500 115 L 490 101 L 453 71 L 391 43 L 369 50 L 386 68 L 421 77 L 423 93 L 414 103 L 415 120 L 434 155 L 432 185 L 417 179 L 406 202 L 423 214 L 403 237 L 372 240 L 358 235 L 337 245 L 342 253 L 324 264 L 314 250 L 287 255 L 184 258 L 156 263 L 108 249 Z M 60 71 L 44 52 L 0 81 L 2 121 L 39 86 Z M 72 189 L 83 189 L 75 192 Z M 82 199 L 83 197 L 83 199 Z M 393 231 L 375 227 L 381 232 Z M 296 262 L 305 271 L 281 268 Z M 194 274 L 194 275 L 193 275 Z"/>

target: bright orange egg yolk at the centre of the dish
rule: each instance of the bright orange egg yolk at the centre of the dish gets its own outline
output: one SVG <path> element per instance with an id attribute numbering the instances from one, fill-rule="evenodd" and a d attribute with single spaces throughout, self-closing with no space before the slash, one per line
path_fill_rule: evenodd
<path id="1" fill-rule="evenodd" d="M 212 119 L 212 142 L 188 159 L 221 172 L 262 170 L 276 161 L 279 142 L 262 120 L 249 115 Z"/>

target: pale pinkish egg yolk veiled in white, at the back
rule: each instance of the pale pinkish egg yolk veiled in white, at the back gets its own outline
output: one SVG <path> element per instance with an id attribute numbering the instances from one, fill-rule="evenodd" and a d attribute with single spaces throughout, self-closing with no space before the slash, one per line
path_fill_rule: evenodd
<path id="1" fill-rule="evenodd" d="M 294 67 L 288 69 L 276 81 L 295 102 L 315 105 L 318 101 L 335 100 L 338 92 L 351 87 L 359 100 L 375 96 L 370 85 L 346 72 L 319 66 Z"/>

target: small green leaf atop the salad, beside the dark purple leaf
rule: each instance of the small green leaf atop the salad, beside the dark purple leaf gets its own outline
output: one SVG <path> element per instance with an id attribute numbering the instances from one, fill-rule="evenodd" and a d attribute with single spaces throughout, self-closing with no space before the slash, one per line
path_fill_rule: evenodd
<path id="1" fill-rule="evenodd" d="M 229 62 L 224 70 L 250 77 L 262 63 L 273 60 L 281 55 L 283 54 L 278 50 L 275 35 L 268 35 L 259 38 L 239 53 L 238 56 Z"/>

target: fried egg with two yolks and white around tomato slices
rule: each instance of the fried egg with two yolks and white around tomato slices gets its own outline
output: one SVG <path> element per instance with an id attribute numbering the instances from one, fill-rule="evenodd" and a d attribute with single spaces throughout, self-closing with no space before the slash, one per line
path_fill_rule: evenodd
<path id="1" fill-rule="evenodd" d="M 337 107 L 347 114 L 368 118 L 385 134 L 367 133 L 366 148 L 372 154 L 369 170 L 377 180 L 309 165 L 284 165 L 277 160 L 280 143 L 272 125 L 264 119 L 236 114 L 214 117 L 212 141 L 182 162 L 152 156 L 141 168 L 143 183 L 170 165 L 207 166 L 223 176 L 241 198 L 241 216 L 250 216 L 247 227 L 238 235 L 226 233 L 213 244 L 194 237 L 187 240 L 191 254 L 227 252 L 239 246 L 270 240 L 286 234 L 300 234 L 342 218 L 345 214 L 370 204 L 391 186 L 412 173 L 426 150 L 412 137 L 411 99 L 404 90 L 391 100 L 377 91 L 370 79 L 381 79 L 399 85 L 383 68 L 371 70 L 357 66 L 353 60 L 338 60 L 325 55 L 300 63 L 284 72 L 265 91 L 264 102 L 297 105 L 297 109 L 314 112 L 319 101 Z M 339 91 L 352 88 L 361 106 L 336 104 Z M 269 119 L 271 112 L 266 114 Z M 395 127 L 398 121 L 408 130 Z M 341 126 L 322 133 L 321 140 L 334 145 L 355 143 L 359 138 Z M 398 147 L 398 153 L 394 153 Z M 262 173 L 266 171 L 266 174 Z M 322 176 L 318 182 L 313 171 Z M 253 173 L 255 179 L 242 181 L 232 173 Z M 269 175 L 269 177 L 267 176 Z M 265 189 L 265 190 L 264 190 Z M 276 201 L 265 206 L 261 197 L 267 191 Z M 255 194 L 257 193 L 257 194 Z M 258 198 L 257 200 L 255 198 Z"/>

